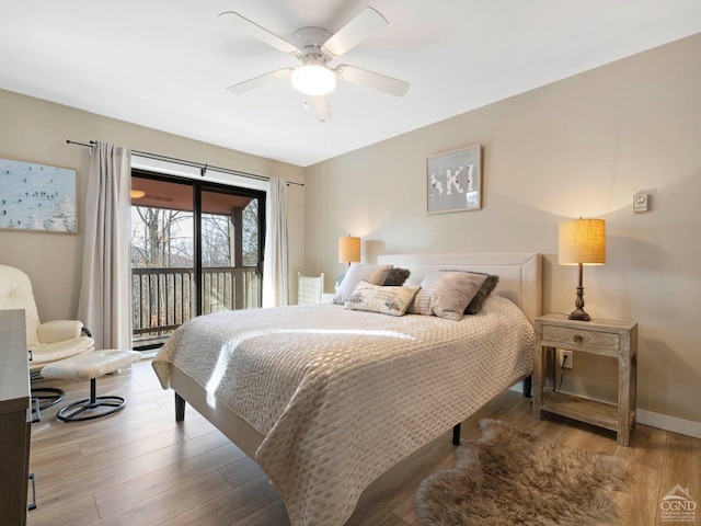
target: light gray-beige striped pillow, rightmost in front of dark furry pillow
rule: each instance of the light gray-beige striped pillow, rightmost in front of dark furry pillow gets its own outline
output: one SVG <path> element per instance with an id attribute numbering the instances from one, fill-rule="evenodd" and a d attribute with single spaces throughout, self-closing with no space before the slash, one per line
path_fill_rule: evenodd
<path id="1" fill-rule="evenodd" d="M 459 321 L 485 279 L 470 272 L 429 272 L 409 312 Z"/>

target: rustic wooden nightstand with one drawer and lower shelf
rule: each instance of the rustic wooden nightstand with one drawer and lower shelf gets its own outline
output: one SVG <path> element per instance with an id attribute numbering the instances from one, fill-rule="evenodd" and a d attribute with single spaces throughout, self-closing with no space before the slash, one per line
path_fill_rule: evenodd
<path id="1" fill-rule="evenodd" d="M 582 351 L 610 356 L 618 362 L 618 404 L 599 402 L 545 388 L 552 375 L 556 350 Z M 635 377 L 637 369 L 637 323 L 610 320 L 575 321 L 567 315 L 536 318 L 533 364 L 533 418 L 542 411 L 616 431 L 618 443 L 628 446 L 635 425 Z"/>

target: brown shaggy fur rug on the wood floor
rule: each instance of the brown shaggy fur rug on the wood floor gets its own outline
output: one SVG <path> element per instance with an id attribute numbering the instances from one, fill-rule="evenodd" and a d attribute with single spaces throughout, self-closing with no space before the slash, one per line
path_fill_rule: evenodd
<path id="1" fill-rule="evenodd" d="M 482 436 L 456 450 L 451 469 L 416 493 L 422 526 L 594 526 L 617 518 L 623 459 L 568 448 L 505 422 L 480 421 Z"/>

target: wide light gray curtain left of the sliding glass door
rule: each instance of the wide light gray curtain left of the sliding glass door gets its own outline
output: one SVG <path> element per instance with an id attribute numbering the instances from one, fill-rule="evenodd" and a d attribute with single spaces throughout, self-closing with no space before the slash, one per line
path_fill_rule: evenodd
<path id="1" fill-rule="evenodd" d="M 131 152 L 96 142 L 91 156 L 78 315 L 96 348 L 129 350 Z"/>

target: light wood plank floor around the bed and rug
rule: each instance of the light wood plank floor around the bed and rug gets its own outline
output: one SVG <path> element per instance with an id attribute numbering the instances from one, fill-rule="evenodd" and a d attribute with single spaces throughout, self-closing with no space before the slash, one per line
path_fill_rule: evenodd
<path id="1" fill-rule="evenodd" d="M 87 398 L 90 388 L 89 382 L 50 385 L 67 390 L 61 405 Z M 37 508 L 28 514 L 30 526 L 289 525 L 267 478 L 240 449 L 191 408 L 185 422 L 175 422 L 173 393 L 160 388 L 149 361 L 99 378 L 100 395 L 123 396 L 127 407 L 102 420 L 68 424 L 56 420 L 58 408 L 50 408 L 33 424 L 30 469 Z M 559 416 L 533 420 L 529 400 L 514 391 L 466 421 L 463 439 L 479 436 L 482 418 L 625 458 L 631 478 L 617 495 L 621 525 L 675 524 L 662 522 L 659 501 L 677 484 L 701 503 L 699 439 L 639 425 L 632 447 L 621 447 L 604 430 Z M 364 495 L 352 524 L 416 526 L 416 487 L 426 474 L 452 465 L 449 433 L 418 457 L 410 472 L 392 478 L 394 484 Z"/>

